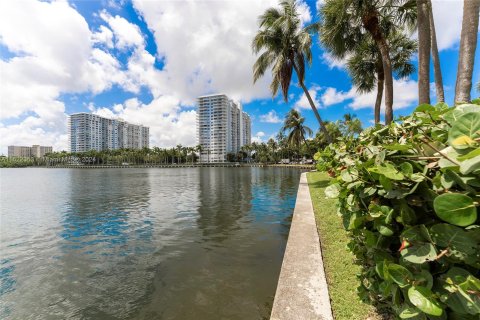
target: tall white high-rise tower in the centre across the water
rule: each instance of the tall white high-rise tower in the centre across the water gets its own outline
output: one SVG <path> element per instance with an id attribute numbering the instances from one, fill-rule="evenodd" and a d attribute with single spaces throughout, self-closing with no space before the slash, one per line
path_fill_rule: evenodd
<path id="1" fill-rule="evenodd" d="M 237 153 L 251 142 L 250 116 L 242 105 L 224 94 L 197 99 L 197 138 L 201 162 L 227 161 L 228 153 Z"/>

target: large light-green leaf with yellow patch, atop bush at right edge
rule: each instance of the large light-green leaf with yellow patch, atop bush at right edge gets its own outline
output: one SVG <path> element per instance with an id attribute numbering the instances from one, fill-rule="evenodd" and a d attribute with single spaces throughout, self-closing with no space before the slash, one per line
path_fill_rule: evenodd
<path id="1" fill-rule="evenodd" d="M 480 112 L 469 112 L 455 121 L 448 133 L 448 143 L 455 149 L 466 149 L 480 137 Z"/>

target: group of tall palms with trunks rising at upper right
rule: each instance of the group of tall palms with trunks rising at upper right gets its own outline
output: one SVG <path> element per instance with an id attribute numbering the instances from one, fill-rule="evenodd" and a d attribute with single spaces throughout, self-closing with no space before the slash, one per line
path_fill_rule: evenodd
<path id="1" fill-rule="evenodd" d="M 479 7 L 480 0 L 464 1 L 455 103 L 471 100 Z M 256 82 L 271 69 L 272 96 L 281 88 L 288 102 L 295 71 L 327 141 L 332 141 L 327 123 L 305 86 L 305 68 L 312 63 L 315 33 L 328 53 L 347 61 L 347 71 L 358 92 L 371 92 L 376 88 L 375 123 L 380 122 L 383 98 L 385 122 L 393 121 L 394 75 L 405 78 L 415 71 L 410 59 L 417 50 L 419 103 L 430 103 L 430 57 L 437 101 L 445 101 L 431 0 L 325 0 L 319 16 L 320 22 L 303 26 L 295 0 L 284 0 L 278 8 L 267 9 L 259 17 L 259 31 L 252 41 L 253 52 L 259 54 L 253 66 L 253 80 Z M 415 30 L 418 45 L 410 39 Z"/>

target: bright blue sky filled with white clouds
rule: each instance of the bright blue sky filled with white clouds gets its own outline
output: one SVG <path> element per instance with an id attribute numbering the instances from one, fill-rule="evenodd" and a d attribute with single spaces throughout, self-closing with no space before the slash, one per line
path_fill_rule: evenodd
<path id="1" fill-rule="evenodd" d="M 303 24 L 318 20 L 322 2 L 298 2 Z M 151 147 L 193 146 L 195 99 L 212 93 L 242 103 L 252 118 L 253 141 L 274 137 L 291 108 L 317 130 L 296 79 L 288 103 L 271 96 L 269 73 L 253 84 L 251 41 L 258 16 L 276 5 L 276 0 L 0 0 L 0 154 L 9 145 L 68 150 L 67 119 L 76 112 L 149 126 Z M 462 7 L 461 0 L 433 0 L 449 104 Z M 321 116 L 335 121 L 353 113 L 370 126 L 375 92 L 357 94 L 344 61 L 332 59 L 317 37 L 312 50 L 305 83 Z M 474 83 L 480 81 L 479 50 L 473 74 Z M 409 114 L 417 104 L 416 80 L 416 74 L 395 79 L 395 116 Z M 472 97 L 478 96 L 472 89 Z"/>

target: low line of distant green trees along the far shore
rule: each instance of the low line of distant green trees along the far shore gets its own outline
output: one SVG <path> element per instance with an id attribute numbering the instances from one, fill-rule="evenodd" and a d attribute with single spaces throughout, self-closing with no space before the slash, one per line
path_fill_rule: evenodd
<path id="1" fill-rule="evenodd" d="M 362 131 L 360 120 L 352 114 L 345 114 L 342 120 L 325 122 L 325 131 L 319 131 L 312 137 L 313 131 L 305 124 L 305 119 L 299 111 L 292 109 L 287 113 L 283 126 L 275 138 L 267 142 L 253 142 L 244 145 L 237 153 L 227 154 L 227 161 L 278 163 L 282 159 L 300 161 L 303 158 L 312 159 L 313 154 L 324 148 L 332 140 L 343 136 L 353 138 Z M 81 153 L 66 151 L 52 152 L 44 157 L 7 158 L 0 157 L 0 167 L 25 166 L 62 166 L 62 165 L 177 165 L 193 164 L 199 160 L 198 155 L 206 151 L 201 145 L 185 147 L 177 145 L 173 148 L 152 149 L 117 149 L 90 150 Z"/>

